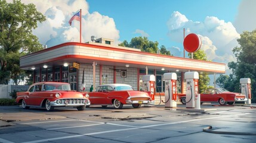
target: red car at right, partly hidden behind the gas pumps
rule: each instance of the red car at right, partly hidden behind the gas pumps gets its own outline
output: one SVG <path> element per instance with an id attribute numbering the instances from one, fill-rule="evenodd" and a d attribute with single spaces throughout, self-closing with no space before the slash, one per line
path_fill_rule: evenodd
<path id="1" fill-rule="evenodd" d="M 238 101 L 247 101 L 245 95 L 229 92 L 224 88 L 209 88 L 206 89 L 200 96 L 201 104 L 203 102 L 219 102 L 220 105 L 233 105 Z M 179 95 L 179 99 L 182 104 L 186 104 L 186 95 Z"/>

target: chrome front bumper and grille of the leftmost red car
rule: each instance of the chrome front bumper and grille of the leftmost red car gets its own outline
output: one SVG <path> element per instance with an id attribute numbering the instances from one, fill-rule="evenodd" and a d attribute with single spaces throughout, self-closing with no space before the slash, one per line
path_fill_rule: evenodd
<path id="1" fill-rule="evenodd" d="M 89 100 L 87 99 L 79 99 L 79 98 L 65 98 L 65 99 L 58 99 L 55 101 L 52 101 L 50 104 L 54 107 L 77 107 L 82 105 L 87 105 L 87 102 Z M 90 102 L 90 101 L 89 101 Z"/>

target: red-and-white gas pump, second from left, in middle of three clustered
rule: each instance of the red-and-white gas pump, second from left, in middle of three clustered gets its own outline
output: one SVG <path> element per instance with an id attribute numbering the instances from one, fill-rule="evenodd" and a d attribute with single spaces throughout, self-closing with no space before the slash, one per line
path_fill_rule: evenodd
<path id="1" fill-rule="evenodd" d="M 177 74 L 164 73 L 165 107 L 177 107 Z"/>

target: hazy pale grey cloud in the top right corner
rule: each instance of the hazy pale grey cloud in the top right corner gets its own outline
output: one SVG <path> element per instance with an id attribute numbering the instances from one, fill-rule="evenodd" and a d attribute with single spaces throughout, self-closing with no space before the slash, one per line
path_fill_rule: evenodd
<path id="1" fill-rule="evenodd" d="M 256 29 L 256 1 L 242 0 L 238 8 L 238 15 L 236 15 L 234 26 L 238 33 L 243 31 L 252 31 Z"/>

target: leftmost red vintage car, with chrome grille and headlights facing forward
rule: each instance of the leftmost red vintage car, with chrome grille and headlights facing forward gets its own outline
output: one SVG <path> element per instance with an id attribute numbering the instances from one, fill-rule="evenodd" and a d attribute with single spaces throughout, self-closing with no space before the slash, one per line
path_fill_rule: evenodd
<path id="1" fill-rule="evenodd" d="M 26 92 L 17 92 L 16 102 L 26 109 L 41 107 L 52 111 L 55 107 L 76 107 L 80 111 L 85 110 L 88 95 L 72 91 L 69 83 L 39 82 L 31 85 Z"/>

